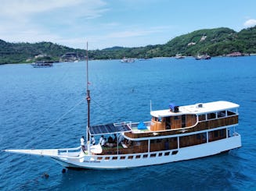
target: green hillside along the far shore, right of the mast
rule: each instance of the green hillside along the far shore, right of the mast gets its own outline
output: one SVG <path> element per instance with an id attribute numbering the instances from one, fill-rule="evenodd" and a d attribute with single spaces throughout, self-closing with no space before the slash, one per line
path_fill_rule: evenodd
<path id="1" fill-rule="evenodd" d="M 256 27 L 243 29 L 239 33 L 229 28 L 196 30 L 173 38 L 166 44 L 148 45 L 141 48 L 106 48 L 93 51 L 93 58 L 153 58 L 177 54 L 195 56 L 227 55 L 234 51 L 243 54 L 256 53 Z M 92 52 L 91 52 L 92 53 Z M 91 58 L 92 58 L 91 57 Z"/>

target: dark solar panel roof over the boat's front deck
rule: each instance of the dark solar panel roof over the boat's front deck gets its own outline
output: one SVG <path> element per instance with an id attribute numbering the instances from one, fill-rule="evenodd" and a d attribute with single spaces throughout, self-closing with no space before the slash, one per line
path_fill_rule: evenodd
<path id="1" fill-rule="evenodd" d="M 114 126 L 113 123 L 91 126 L 89 128 L 91 135 L 99 135 L 99 134 L 108 134 L 108 133 L 118 133 L 118 132 L 127 132 L 131 131 L 131 129 L 127 126 L 127 124 L 121 124 L 118 126 Z"/>

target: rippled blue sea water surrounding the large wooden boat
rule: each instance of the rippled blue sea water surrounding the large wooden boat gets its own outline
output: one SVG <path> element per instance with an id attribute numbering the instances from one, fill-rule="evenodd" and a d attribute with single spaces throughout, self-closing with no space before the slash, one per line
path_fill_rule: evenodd
<path id="1" fill-rule="evenodd" d="M 233 101 L 240 104 L 243 147 L 191 161 L 64 174 L 50 158 L 1 152 L 1 190 L 256 190 L 255 56 L 92 61 L 89 80 L 92 125 L 148 121 L 150 100 L 153 110 Z M 85 62 L 0 65 L 0 150 L 78 147 L 87 122 L 85 81 Z"/>

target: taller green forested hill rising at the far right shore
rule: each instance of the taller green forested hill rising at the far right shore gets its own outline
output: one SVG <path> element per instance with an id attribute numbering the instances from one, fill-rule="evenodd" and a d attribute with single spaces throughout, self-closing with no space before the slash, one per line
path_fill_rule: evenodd
<path id="1" fill-rule="evenodd" d="M 234 51 L 256 53 L 256 27 L 241 30 L 239 33 L 229 28 L 196 30 L 190 34 L 175 37 L 164 44 L 171 55 L 208 54 L 226 55 Z"/>

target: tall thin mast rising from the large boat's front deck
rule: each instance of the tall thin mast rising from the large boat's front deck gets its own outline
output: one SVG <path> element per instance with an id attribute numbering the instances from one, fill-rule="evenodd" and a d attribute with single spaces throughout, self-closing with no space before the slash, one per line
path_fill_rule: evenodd
<path id="1" fill-rule="evenodd" d="M 87 141 L 89 140 L 89 128 L 90 128 L 90 90 L 88 82 L 88 42 L 86 43 L 86 100 L 87 100 Z"/>

